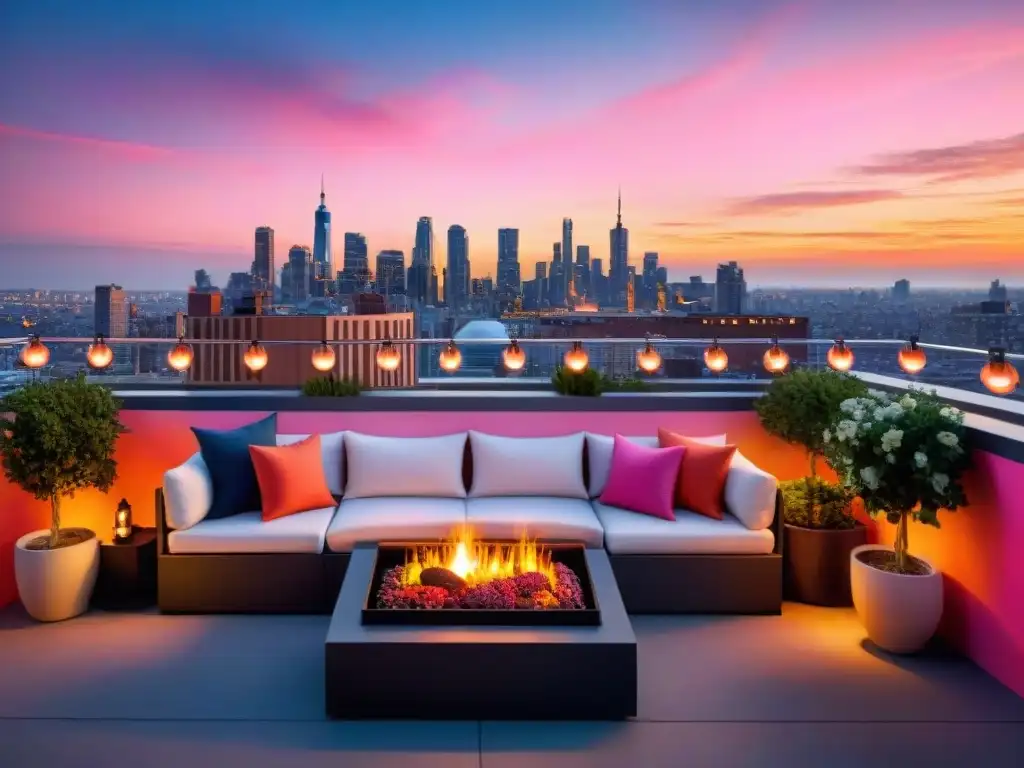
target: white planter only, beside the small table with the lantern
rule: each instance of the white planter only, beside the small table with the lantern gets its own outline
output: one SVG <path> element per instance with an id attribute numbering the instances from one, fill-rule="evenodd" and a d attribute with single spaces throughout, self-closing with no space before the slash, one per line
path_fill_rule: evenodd
<path id="1" fill-rule="evenodd" d="M 26 534 L 14 545 L 14 579 L 22 604 L 33 618 L 61 622 L 84 613 L 99 572 L 99 539 L 57 549 L 26 549 L 49 530 Z"/>

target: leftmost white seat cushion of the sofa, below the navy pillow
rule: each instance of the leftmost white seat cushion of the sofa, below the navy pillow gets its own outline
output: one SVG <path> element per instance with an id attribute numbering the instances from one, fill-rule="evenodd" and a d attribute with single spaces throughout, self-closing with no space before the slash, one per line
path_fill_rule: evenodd
<path id="1" fill-rule="evenodd" d="M 174 555 L 318 554 L 324 551 L 324 540 L 332 515 L 334 507 L 328 507 L 264 522 L 259 512 L 243 512 L 216 520 L 203 520 L 185 530 L 173 530 L 167 537 L 167 548 Z"/>

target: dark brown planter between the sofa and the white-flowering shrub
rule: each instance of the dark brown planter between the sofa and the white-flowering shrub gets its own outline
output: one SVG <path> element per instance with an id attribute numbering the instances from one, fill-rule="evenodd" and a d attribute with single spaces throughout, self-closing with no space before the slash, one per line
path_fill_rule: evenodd
<path id="1" fill-rule="evenodd" d="M 782 573 L 785 598 L 810 605 L 853 604 L 850 553 L 867 543 L 859 522 L 848 529 L 782 527 Z"/>

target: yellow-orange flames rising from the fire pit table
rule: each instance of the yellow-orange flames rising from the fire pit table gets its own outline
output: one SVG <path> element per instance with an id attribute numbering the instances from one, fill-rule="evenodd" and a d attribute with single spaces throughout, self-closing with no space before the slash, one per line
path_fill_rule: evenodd
<path id="1" fill-rule="evenodd" d="M 469 585 L 531 572 L 544 573 L 552 584 L 556 581 L 551 552 L 542 545 L 525 536 L 515 544 L 480 542 L 469 528 L 440 544 L 410 549 L 402 583 L 419 584 L 426 568 L 447 568 Z"/>

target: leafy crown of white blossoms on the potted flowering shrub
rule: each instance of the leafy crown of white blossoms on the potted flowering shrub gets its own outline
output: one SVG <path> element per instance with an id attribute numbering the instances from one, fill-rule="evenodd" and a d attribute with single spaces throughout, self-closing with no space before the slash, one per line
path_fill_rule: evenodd
<path id="1" fill-rule="evenodd" d="M 890 522 L 912 514 L 938 527 L 938 511 L 967 503 L 964 414 L 935 395 L 871 390 L 840 404 L 824 431 L 825 458 L 867 511 Z"/>

